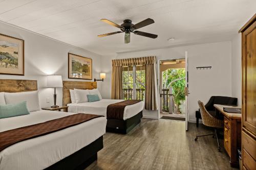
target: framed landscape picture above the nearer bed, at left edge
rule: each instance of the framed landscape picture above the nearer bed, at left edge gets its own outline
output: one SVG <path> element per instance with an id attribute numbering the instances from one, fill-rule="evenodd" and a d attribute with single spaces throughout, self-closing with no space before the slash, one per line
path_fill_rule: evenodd
<path id="1" fill-rule="evenodd" d="M 0 34 L 0 74 L 24 76 L 24 40 Z"/>

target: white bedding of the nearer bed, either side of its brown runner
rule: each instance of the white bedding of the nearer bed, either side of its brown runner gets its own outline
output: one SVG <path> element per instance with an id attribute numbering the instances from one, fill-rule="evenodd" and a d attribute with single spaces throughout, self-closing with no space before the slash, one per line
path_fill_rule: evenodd
<path id="1" fill-rule="evenodd" d="M 0 132 L 46 122 L 74 113 L 40 110 L 28 115 L 0 119 Z M 75 153 L 105 134 L 106 118 L 88 122 L 48 135 L 15 143 L 0 152 L 2 169 L 44 169 Z"/>

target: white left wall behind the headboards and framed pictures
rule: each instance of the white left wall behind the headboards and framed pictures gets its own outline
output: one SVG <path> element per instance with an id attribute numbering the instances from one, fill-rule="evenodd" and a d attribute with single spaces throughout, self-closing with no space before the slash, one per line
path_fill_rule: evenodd
<path id="1" fill-rule="evenodd" d="M 0 22 L 0 28 L 1 34 L 25 40 L 25 76 L 0 75 L 0 79 L 37 80 L 41 107 L 53 105 L 53 89 L 45 88 L 46 75 L 56 74 L 61 75 L 63 80 L 79 81 L 78 79 L 68 79 L 68 53 L 92 58 L 93 79 L 99 78 L 99 72 L 101 72 L 100 55 L 3 22 Z M 101 82 L 98 82 L 99 90 L 101 90 L 101 84 Z M 50 103 L 46 103 L 46 98 L 50 98 Z M 57 104 L 62 104 L 62 88 L 57 88 Z"/>

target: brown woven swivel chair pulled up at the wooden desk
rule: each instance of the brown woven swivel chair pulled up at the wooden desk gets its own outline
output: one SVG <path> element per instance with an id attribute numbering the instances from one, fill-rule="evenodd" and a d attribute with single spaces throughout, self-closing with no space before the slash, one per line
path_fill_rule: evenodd
<path id="1" fill-rule="evenodd" d="M 203 122 L 203 124 L 204 124 L 205 126 L 214 128 L 214 133 L 206 134 L 206 135 L 198 135 L 198 136 L 196 136 L 195 141 L 197 141 L 198 137 L 212 135 L 212 137 L 216 137 L 216 139 L 217 139 L 217 142 L 218 142 L 218 151 L 221 151 L 221 147 L 220 147 L 220 143 L 219 143 L 219 137 L 218 137 L 217 130 L 218 130 L 219 128 L 223 128 L 223 120 L 217 119 L 217 118 L 215 118 L 214 116 L 212 116 L 212 115 L 205 109 L 205 106 L 204 106 L 203 102 L 198 101 L 198 105 L 199 105 L 199 108 L 200 108 L 200 113 L 201 113 L 201 116 L 202 116 L 202 122 Z"/>

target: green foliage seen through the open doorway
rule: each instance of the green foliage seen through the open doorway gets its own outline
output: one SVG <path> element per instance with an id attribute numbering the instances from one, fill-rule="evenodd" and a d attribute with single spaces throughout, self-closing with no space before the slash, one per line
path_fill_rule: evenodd
<path id="1" fill-rule="evenodd" d="M 178 106 L 185 100 L 185 69 L 170 68 L 163 71 L 162 74 L 162 89 L 173 87 L 173 96 L 175 104 Z"/>

